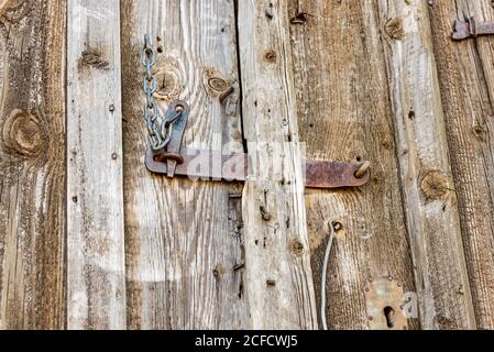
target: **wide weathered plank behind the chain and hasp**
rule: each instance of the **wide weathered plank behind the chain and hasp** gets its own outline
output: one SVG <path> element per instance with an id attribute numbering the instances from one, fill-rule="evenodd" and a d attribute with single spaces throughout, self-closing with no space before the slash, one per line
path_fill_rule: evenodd
<path id="1" fill-rule="evenodd" d="M 243 152 L 231 0 L 123 0 L 125 239 L 131 329 L 250 328 L 239 185 L 146 170 L 141 51 L 150 34 L 162 110 L 191 113 L 184 147 Z M 233 94 L 223 105 L 219 96 Z"/>

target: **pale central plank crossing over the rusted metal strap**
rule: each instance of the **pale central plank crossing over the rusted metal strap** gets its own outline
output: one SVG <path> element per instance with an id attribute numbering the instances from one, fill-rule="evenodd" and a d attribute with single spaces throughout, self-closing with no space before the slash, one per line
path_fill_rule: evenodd
<path id="1" fill-rule="evenodd" d="M 317 329 L 287 1 L 239 1 L 246 283 L 255 329 Z"/>

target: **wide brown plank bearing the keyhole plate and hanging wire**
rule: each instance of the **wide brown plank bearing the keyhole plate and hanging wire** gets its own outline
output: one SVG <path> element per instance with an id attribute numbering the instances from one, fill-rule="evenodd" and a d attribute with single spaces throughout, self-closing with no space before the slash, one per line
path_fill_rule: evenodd
<path id="1" fill-rule="evenodd" d="M 371 161 L 360 189 L 307 191 L 317 292 L 329 227 L 337 221 L 327 277 L 330 329 L 369 329 L 364 288 L 392 276 L 414 293 L 376 1 L 290 1 L 300 140 L 310 158 Z M 319 300 L 319 299 L 318 299 Z M 399 312 L 395 312 L 399 314 Z M 375 317 L 372 317 L 375 318 Z M 420 324 L 410 319 L 408 327 Z"/>

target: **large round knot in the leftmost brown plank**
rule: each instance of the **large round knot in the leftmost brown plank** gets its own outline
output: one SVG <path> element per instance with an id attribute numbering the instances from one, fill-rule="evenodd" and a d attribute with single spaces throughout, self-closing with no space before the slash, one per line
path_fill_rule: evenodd
<path id="1" fill-rule="evenodd" d="M 45 148 L 46 135 L 40 121 L 24 110 L 15 109 L 6 119 L 2 143 L 13 153 L 34 157 Z"/>

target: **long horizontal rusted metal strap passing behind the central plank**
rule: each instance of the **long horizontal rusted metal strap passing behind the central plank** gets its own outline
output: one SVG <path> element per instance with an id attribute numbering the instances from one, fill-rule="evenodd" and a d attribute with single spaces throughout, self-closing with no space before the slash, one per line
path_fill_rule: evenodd
<path id="1" fill-rule="evenodd" d="M 250 167 L 248 154 L 222 155 L 216 151 L 184 148 L 180 155 L 183 161 L 176 166 L 174 174 L 191 179 L 244 182 L 249 175 L 255 175 Z M 152 150 L 146 153 L 145 165 L 152 173 L 169 176 L 166 161 Z M 362 164 L 359 163 L 307 160 L 305 185 L 307 188 L 320 189 L 364 186 L 370 180 L 370 172 L 356 177 L 361 167 Z"/>

